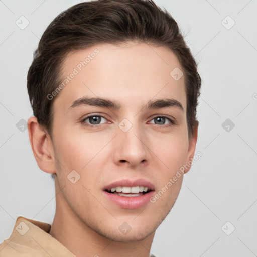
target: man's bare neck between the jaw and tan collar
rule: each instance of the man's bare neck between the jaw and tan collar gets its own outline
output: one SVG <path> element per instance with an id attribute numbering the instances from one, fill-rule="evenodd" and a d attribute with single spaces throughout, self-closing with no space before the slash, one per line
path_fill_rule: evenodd
<path id="1" fill-rule="evenodd" d="M 149 257 L 155 232 L 141 241 L 111 240 L 94 231 L 71 210 L 58 182 L 55 190 L 56 213 L 49 234 L 76 257 Z"/>

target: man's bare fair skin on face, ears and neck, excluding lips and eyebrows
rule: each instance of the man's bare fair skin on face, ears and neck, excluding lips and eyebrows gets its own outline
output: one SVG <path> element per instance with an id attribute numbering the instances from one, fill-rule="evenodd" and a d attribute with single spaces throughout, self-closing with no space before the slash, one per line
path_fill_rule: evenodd
<path id="1" fill-rule="evenodd" d="M 28 120 L 38 166 L 57 175 L 50 235 L 76 256 L 148 257 L 155 230 L 173 207 L 183 175 L 155 203 L 138 209 L 115 205 L 102 188 L 121 179 L 143 178 L 158 192 L 193 158 L 198 126 L 188 138 L 184 76 L 178 81 L 170 76 L 175 67 L 182 70 L 173 52 L 136 42 L 96 45 L 70 52 L 62 75 L 69 75 L 96 48 L 99 54 L 54 99 L 52 138 L 35 117 Z M 68 110 L 83 96 L 115 100 L 121 108 L 84 105 Z M 184 112 L 177 107 L 142 108 L 149 100 L 166 98 L 179 101 Z M 103 116 L 98 127 L 86 126 L 92 124 L 89 119 L 81 122 L 89 114 Z M 163 115 L 176 124 L 156 121 Z M 132 124 L 127 132 L 118 126 L 124 118 Z M 72 170 L 80 175 L 75 184 L 67 179 Z M 119 230 L 124 222 L 132 228 L 127 234 Z"/>

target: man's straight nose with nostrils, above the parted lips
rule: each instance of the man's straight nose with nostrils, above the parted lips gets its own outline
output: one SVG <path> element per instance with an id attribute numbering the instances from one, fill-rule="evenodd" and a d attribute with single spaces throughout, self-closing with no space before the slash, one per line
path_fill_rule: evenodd
<path id="1" fill-rule="evenodd" d="M 137 167 L 149 161 L 147 139 L 140 125 L 133 124 L 127 132 L 118 128 L 114 149 L 114 162 L 117 165 Z"/>

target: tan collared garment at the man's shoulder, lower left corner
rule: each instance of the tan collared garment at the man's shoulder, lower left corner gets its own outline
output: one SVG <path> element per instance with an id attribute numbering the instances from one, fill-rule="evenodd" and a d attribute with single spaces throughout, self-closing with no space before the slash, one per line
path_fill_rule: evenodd
<path id="1" fill-rule="evenodd" d="M 19 216 L 10 238 L 0 244 L 0 257 L 76 257 L 50 229 L 50 224 Z"/>

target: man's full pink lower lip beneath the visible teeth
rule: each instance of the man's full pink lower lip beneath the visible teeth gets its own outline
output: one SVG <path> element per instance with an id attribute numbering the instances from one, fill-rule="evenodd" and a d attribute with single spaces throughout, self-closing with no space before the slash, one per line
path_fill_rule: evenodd
<path id="1" fill-rule="evenodd" d="M 120 196 L 103 191 L 103 194 L 113 203 L 124 209 L 138 209 L 150 202 L 154 191 L 140 196 Z"/>

